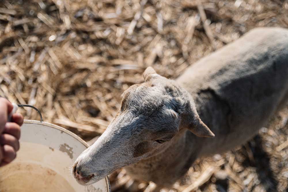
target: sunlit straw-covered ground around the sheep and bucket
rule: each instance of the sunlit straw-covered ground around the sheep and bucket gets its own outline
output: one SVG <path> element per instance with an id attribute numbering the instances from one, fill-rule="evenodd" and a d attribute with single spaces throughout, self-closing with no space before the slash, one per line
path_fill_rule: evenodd
<path id="1" fill-rule="evenodd" d="M 252 28 L 287 27 L 287 12 L 287 0 L 3 0 L 0 96 L 88 141 L 147 66 L 176 78 Z M 198 160 L 171 192 L 288 191 L 287 119 L 284 107 L 245 146 Z M 153 188 L 124 170 L 109 178 L 113 192 Z"/>

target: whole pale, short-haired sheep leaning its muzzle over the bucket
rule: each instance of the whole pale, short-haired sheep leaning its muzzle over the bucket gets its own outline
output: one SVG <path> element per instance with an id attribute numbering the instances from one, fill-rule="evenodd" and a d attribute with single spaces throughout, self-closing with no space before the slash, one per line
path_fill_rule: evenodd
<path id="1" fill-rule="evenodd" d="M 143 76 L 75 161 L 80 184 L 124 167 L 134 179 L 170 186 L 197 158 L 247 142 L 288 100 L 288 30 L 253 29 L 176 80 L 151 67 Z"/>

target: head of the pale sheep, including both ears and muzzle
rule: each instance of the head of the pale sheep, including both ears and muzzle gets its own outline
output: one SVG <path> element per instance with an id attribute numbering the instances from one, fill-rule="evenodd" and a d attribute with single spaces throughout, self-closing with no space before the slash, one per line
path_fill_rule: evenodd
<path id="1" fill-rule="evenodd" d="M 190 94 L 148 67 L 145 82 L 132 85 L 106 131 L 75 161 L 72 174 L 92 184 L 120 167 L 154 156 L 170 146 L 180 129 L 214 137 L 200 120 Z"/>

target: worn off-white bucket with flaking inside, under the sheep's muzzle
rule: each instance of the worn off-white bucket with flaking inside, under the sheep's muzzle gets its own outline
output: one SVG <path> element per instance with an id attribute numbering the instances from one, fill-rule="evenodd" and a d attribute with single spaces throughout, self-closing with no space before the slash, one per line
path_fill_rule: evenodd
<path id="1" fill-rule="evenodd" d="M 70 167 L 87 147 L 67 129 L 25 120 L 17 158 L 0 168 L 0 191 L 111 192 L 108 177 L 83 186 L 71 175 Z"/>

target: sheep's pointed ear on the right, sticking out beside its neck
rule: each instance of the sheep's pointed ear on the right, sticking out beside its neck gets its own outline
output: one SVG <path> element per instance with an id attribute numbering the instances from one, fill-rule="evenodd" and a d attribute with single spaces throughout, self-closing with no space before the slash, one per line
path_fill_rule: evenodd
<path id="1" fill-rule="evenodd" d="M 196 116 L 188 126 L 188 129 L 198 137 L 214 138 L 214 133 Z"/>

